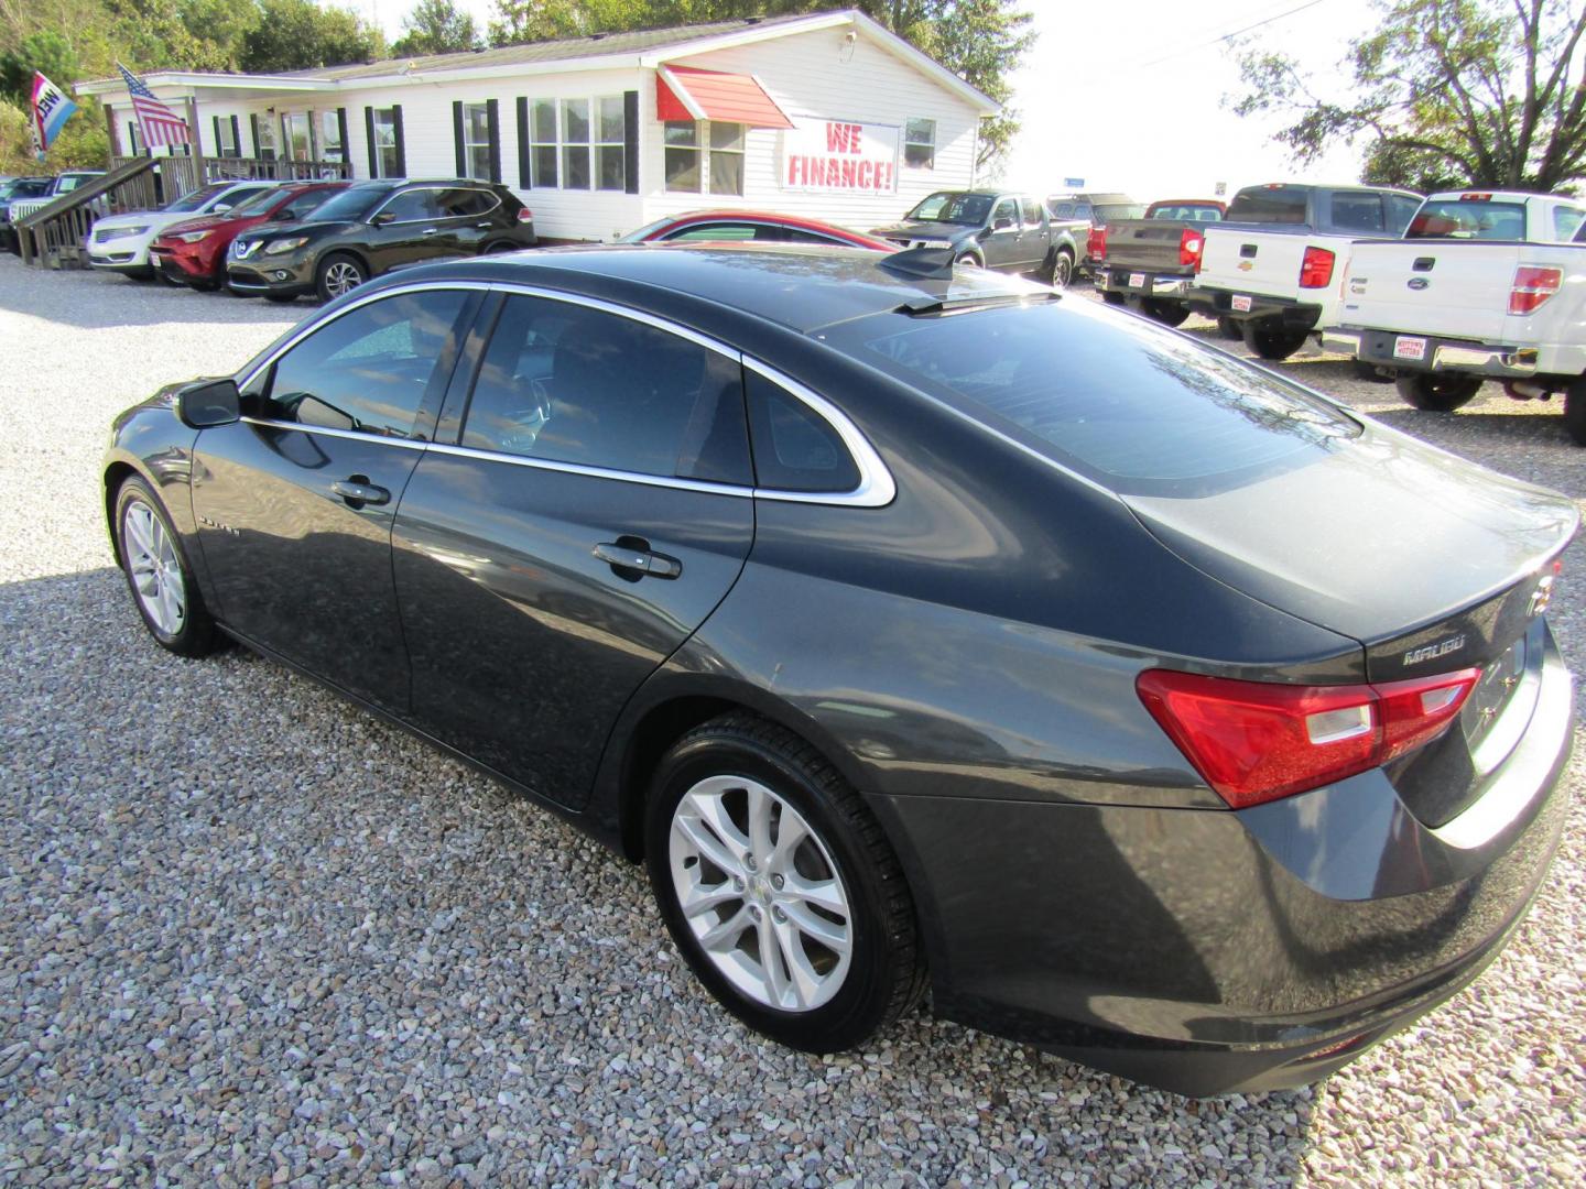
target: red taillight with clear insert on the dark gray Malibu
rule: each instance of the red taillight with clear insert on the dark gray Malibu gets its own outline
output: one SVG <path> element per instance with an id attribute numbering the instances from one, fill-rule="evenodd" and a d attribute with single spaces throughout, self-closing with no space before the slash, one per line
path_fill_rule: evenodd
<path id="1" fill-rule="evenodd" d="M 1378 685 L 1277 685 L 1148 669 L 1134 685 L 1205 783 L 1247 809 L 1432 742 L 1480 677 L 1459 669 Z"/>

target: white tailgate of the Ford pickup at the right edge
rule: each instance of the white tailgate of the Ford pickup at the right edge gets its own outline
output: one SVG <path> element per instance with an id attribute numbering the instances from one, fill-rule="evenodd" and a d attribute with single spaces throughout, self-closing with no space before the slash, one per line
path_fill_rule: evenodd
<path id="1" fill-rule="evenodd" d="M 1473 239 L 1359 243 L 1343 284 L 1339 322 L 1500 342 L 1521 244 Z"/>

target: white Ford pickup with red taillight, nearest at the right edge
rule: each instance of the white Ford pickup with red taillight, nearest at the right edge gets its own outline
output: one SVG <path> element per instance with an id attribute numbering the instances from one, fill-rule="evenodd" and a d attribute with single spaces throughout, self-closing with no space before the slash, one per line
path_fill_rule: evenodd
<path id="1" fill-rule="evenodd" d="M 1404 239 L 1354 246 L 1321 342 L 1418 409 L 1458 409 L 1483 379 L 1519 400 L 1565 395 L 1586 445 L 1586 205 L 1502 190 L 1434 193 Z"/>

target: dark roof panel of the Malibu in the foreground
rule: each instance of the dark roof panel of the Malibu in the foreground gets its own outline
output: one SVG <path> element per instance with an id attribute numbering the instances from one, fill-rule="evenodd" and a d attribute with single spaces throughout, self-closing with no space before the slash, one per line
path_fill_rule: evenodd
<path id="1" fill-rule="evenodd" d="M 887 255 L 825 244 L 601 244 L 401 270 L 395 281 L 561 282 L 666 312 L 679 293 L 810 335 L 837 322 L 944 300 L 1044 300 L 1052 289 L 988 270 L 902 276 Z"/>

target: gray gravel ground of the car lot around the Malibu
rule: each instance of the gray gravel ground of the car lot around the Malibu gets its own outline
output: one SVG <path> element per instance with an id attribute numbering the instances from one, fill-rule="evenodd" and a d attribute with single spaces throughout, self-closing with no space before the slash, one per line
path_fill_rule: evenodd
<path id="1" fill-rule="evenodd" d="M 1321 1086 L 1190 1102 L 925 1015 L 861 1056 L 766 1045 L 639 870 L 308 680 L 154 647 L 95 503 L 109 419 L 303 312 L 0 258 L 0 1183 L 1586 1179 L 1578 763 L 1551 885 L 1473 988 Z M 1546 406 L 1416 414 L 1283 366 L 1586 495 Z"/>

